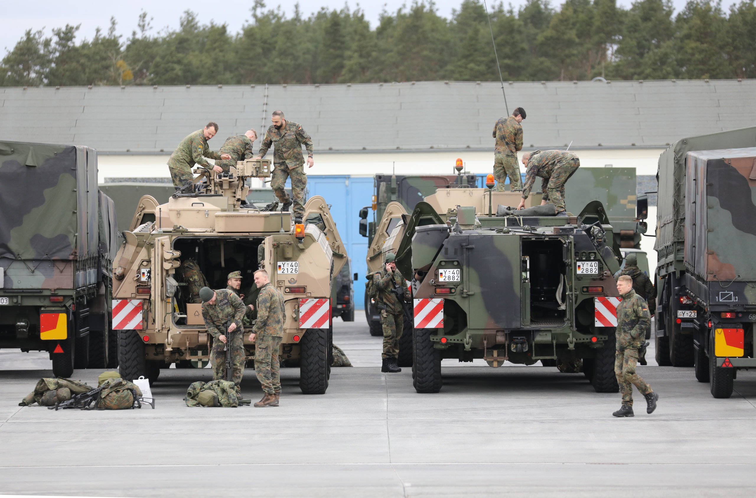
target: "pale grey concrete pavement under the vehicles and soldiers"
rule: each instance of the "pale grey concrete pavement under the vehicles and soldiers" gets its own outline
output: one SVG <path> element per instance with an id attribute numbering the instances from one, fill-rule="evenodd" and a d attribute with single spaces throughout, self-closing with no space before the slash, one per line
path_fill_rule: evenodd
<path id="1" fill-rule="evenodd" d="M 380 355 L 364 323 L 334 323 L 355 364 Z M 22 353 L 19 353 L 22 354 Z M 650 356 L 650 355 L 649 355 Z M 373 359 L 371 359 L 373 358 Z M 457 367 L 419 395 L 411 369 L 334 368 L 326 395 L 282 369 L 280 407 L 186 407 L 209 370 L 162 370 L 157 405 L 18 407 L 50 370 L 0 372 L 0 493 L 83 496 L 754 496 L 756 375 L 711 398 L 691 368 L 639 367 L 659 393 L 616 419 L 618 394 L 554 367 Z M 376 361 L 380 365 L 380 359 Z M 73 378 L 97 382 L 99 370 Z M 243 393 L 262 393 L 246 371 Z"/>

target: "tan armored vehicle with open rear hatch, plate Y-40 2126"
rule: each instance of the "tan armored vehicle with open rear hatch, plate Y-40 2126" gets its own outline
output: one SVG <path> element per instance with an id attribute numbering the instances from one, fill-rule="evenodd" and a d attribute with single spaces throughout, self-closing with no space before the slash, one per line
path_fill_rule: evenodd
<path id="1" fill-rule="evenodd" d="M 305 204 L 307 225 L 290 212 L 262 211 L 245 198 L 249 177 L 270 176 L 268 161 L 246 160 L 228 174 L 197 168 L 205 193 L 176 194 L 166 204 L 145 196 L 113 263 L 113 327 L 120 330 L 124 378 L 154 381 L 161 368 L 204 367 L 212 336 L 202 317 L 199 288 L 226 287 L 240 271 L 244 303 L 256 305 L 253 273 L 265 269 L 286 299 L 280 359 L 299 362 L 308 394 L 328 386 L 331 282 L 345 263 L 344 244 L 324 198 Z M 146 221 L 147 220 L 147 221 Z M 244 334 L 246 361 L 254 358 Z"/>

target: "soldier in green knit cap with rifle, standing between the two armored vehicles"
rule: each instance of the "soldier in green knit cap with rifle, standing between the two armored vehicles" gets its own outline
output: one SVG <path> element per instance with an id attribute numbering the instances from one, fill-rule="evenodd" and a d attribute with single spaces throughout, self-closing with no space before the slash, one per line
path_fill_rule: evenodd
<path id="1" fill-rule="evenodd" d="M 373 275 L 377 290 L 377 303 L 380 323 L 383 325 L 383 366 L 382 372 L 401 372 L 397 364 L 399 356 L 399 339 L 404 329 L 404 290 L 407 281 L 396 269 L 396 255 L 386 254 L 386 267 Z"/>

